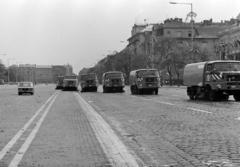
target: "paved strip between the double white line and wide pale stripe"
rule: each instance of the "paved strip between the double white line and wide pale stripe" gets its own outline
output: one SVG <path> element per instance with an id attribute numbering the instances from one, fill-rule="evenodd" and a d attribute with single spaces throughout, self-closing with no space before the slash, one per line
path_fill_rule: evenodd
<path id="1" fill-rule="evenodd" d="M 71 91 L 60 92 L 19 166 L 100 167 L 109 164 Z"/>

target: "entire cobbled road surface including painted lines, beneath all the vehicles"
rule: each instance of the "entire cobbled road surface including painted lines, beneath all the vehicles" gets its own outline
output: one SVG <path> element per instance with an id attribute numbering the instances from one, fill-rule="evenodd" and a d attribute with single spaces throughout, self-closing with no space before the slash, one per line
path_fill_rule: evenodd
<path id="1" fill-rule="evenodd" d="M 80 88 L 79 88 L 80 89 Z M 240 166 L 240 103 L 0 86 L 0 167 Z"/>

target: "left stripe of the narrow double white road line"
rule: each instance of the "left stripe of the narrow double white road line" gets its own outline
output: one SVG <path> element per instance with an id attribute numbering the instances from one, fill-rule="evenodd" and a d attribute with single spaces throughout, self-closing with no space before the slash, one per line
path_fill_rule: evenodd
<path id="1" fill-rule="evenodd" d="M 43 106 L 28 120 L 28 122 L 21 128 L 21 130 L 8 142 L 8 144 L 0 152 L 0 161 L 6 155 L 6 153 L 12 148 L 12 146 L 17 142 L 17 140 L 22 136 L 22 134 L 27 130 L 29 125 L 34 121 L 38 114 L 43 110 L 43 108 L 48 104 L 48 102 L 57 94 L 55 92 L 44 104 Z"/>

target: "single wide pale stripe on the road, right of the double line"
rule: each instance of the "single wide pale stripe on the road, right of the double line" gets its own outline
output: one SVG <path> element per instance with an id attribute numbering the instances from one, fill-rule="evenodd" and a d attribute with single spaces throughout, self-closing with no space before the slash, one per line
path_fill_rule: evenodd
<path id="1" fill-rule="evenodd" d="M 92 130 L 113 166 L 138 167 L 137 158 L 117 137 L 106 121 L 78 94 L 74 93 L 79 105 L 86 113 Z"/>

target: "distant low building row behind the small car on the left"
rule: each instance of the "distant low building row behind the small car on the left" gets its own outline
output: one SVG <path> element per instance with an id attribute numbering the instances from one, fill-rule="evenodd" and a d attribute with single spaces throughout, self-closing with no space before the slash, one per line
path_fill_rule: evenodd
<path id="1" fill-rule="evenodd" d="M 56 82 L 57 76 L 69 75 L 73 73 L 71 65 L 36 65 L 36 64 L 19 64 L 9 67 L 15 74 L 14 81 L 32 81 L 34 83 L 52 83 Z M 11 79 L 10 79 L 11 81 Z"/>

